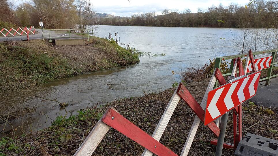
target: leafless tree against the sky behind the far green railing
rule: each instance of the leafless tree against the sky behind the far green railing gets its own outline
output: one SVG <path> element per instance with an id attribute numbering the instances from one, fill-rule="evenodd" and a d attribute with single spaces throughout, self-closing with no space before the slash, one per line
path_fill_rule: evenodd
<path id="1" fill-rule="evenodd" d="M 75 0 L 75 5 L 78 15 L 77 25 L 79 29 L 88 29 L 90 24 L 97 24 L 93 4 L 88 0 Z M 84 33 L 84 30 L 81 30 L 81 33 Z"/>

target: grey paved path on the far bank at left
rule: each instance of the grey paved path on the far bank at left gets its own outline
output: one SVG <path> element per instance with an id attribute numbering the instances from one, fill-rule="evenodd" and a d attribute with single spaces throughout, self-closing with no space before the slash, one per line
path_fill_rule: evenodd
<path id="1" fill-rule="evenodd" d="M 41 29 L 36 29 L 37 34 L 32 34 L 29 33 L 29 39 L 42 39 L 42 30 Z M 50 33 L 55 33 L 54 31 L 50 31 Z M 32 35 L 30 35 L 32 34 Z M 74 34 L 50 34 L 50 38 L 51 39 L 70 39 L 71 37 L 78 37 L 80 39 L 84 38 L 84 37 L 79 37 L 78 35 L 74 35 Z M 57 38 L 59 37 L 59 38 Z M 62 38 L 60 38 L 62 37 Z M 49 35 L 48 35 L 48 30 L 44 30 L 44 38 L 45 39 L 49 39 Z M 75 38 L 76 39 L 76 38 Z M 27 40 L 27 36 L 14 36 L 14 37 L 0 37 L 0 42 L 2 41 L 11 41 L 11 40 Z"/>

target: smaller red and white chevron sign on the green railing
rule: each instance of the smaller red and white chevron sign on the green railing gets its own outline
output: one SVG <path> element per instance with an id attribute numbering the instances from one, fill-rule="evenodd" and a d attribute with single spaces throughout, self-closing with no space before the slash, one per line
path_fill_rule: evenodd
<path id="1" fill-rule="evenodd" d="M 270 67 L 272 56 L 254 59 L 256 70 L 262 70 Z M 251 60 L 248 62 L 247 73 L 252 72 Z"/>

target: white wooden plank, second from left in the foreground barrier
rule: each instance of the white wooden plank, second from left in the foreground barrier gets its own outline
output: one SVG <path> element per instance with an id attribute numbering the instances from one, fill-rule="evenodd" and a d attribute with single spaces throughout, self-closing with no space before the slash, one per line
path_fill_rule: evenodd
<path id="1" fill-rule="evenodd" d="M 181 84 L 180 84 L 181 85 Z M 153 132 L 152 137 L 159 141 L 164 130 L 166 129 L 166 126 L 168 125 L 168 122 L 170 121 L 170 118 L 172 114 L 174 113 L 176 106 L 180 100 L 180 96 L 177 94 L 177 90 L 179 87 L 176 88 L 174 94 L 172 95 L 162 117 L 160 118 L 155 131 Z M 151 156 L 153 153 L 147 149 L 144 149 L 144 152 L 142 153 L 142 156 Z"/>

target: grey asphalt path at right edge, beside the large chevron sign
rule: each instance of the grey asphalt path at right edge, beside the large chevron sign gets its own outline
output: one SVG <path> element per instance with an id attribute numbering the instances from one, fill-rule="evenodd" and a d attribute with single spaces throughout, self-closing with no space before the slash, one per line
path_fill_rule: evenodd
<path id="1" fill-rule="evenodd" d="M 278 108 L 278 77 L 270 79 L 268 86 L 262 84 L 265 82 L 258 85 L 256 96 L 250 100 L 258 105 Z"/>

